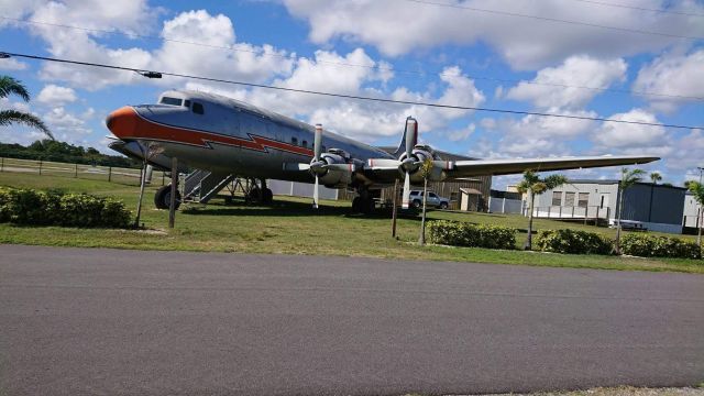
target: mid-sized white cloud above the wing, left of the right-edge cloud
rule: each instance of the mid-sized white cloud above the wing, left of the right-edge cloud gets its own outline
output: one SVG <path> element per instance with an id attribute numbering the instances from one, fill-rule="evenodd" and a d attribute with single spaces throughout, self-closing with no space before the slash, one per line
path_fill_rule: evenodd
<path id="1" fill-rule="evenodd" d="M 530 101 L 539 108 L 579 109 L 601 91 L 578 87 L 607 88 L 625 78 L 626 68 L 624 59 L 600 61 L 586 55 L 572 56 L 558 67 L 538 72 L 531 81 L 521 81 L 510 88 L 506 98 Z"/>

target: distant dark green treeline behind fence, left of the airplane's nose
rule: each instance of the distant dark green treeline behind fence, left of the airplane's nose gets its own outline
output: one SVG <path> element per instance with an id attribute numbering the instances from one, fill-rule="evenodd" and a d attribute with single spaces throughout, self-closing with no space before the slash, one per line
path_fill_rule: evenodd
<path id="1" fill-rule="evenodd" d="M 106 155 L 94 147 L 85 148 L 48 139 L 36 141 L 29 146 L 0 143 L 0 156 L 6 158 L 41 160 L 84 165 L 141 167 L 139 162 L 121 155 Z"/>

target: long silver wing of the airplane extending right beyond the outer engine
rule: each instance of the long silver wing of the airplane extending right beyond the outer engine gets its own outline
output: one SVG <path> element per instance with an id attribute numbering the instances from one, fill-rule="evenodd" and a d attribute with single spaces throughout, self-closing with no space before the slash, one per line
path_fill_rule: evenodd
<path id="1" fill-rule="evenodd" d="M 652 156 L 614 155 L 583 157 L 546 157 L 457 161 L 452 169 L 446 170 L 449 178 L 520 174 L 531 169 L 536 172 L 578 169 L 615 165 L 647 164 L 660 160 Z"/>

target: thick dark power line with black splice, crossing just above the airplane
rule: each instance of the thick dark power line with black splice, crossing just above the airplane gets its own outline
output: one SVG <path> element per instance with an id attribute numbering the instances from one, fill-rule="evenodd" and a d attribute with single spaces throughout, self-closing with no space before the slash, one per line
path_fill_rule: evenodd
<path id="1" fill-rule="evenodd" d="M 4 57 L 16 56 L 16 57 L 29 58 L 29 59 L 57 62 L 57 63 L 72 64 L 72 65 L 81 65 L 81 66 L 100 67 L 100 68 L 108 68 L 108 69 L 116 69 L 116 70 L 133 72 L 133 73 L 138 73 L 140 75 L 143 75 L 145 77 L 151 77 L 151 78 L 161 78 L 161 76 L 164 75 L 164 76 L 196 79 L 196 80 L 202 80 L 202 81 L 209 81 L 209 82 L 232 84 L 232 85 L 254 87 L 254 88 L 275 89 L 275 90 L 288 91 L 288 92 L 318 95 L 318 96 L 327 96 L 327 97 L 353 99 L 353 100 L 377 101 L 377 102 L 384 102 L 384 103 L 422 106 L 422 107 L 441 108 L 441 109 L 453 109 L 453 110 L 473 110 L 473 111 L 485 111 L 485 112 L 496 112 L 496 113 L 518 114 L 518 116 L 552 117 L 552 118 L 585 120 L 585 121 L 616 122 L 616 123 L 625 123 L 625 124 L 637 124 L 637 125 L 661 127 L 661 128 L 674 128 L 674 129 L 704 129 L 704 127 L 678 125 L 678 124 L 666 124 L 666 123 L 642 122 L 642 121 L 613 120 L 613 119 L 606 119 L 606 118 L 600 118 L 600 117 L 583 117 L 583 116 L 559 114 L 559 113 L 541 113 L 541 112 L 534 112 L 534 111 L 492 109 L 492 108 L 481 108 L 481 107 L 473 107 L 473 106 L 442 105 L 442 103 L 430 103 L 430 102 L 411 101 L 411 100 L 395 100 L 395 99 L 385 99 L 385 98 L 372 98 L 372 97 L 363 97 L 363 96 L 356 96 L 356 95 L 332 94 L 332 92 L 322 92 L 322 91 L 315 91 L 315 90 L 308 90 L 308 89 L 276 87 L 276 86 L 271 86 L 271 85 L 265 85 L 265 84 L 235 81 L 235 80 L 228 80 L 228 79 L 221 79 L 221 78 L 193 76 L 193 75 L 169 73 L 169 72 L 155 72 L 155 70 L 148 70 L 147 72 L 147 70 L 143 70 L 143 69 L 140 69 L 140 68 L 134 68 L 134 67 L 105 65 L 105 64 L 98 64 L 98 63 L 91 63 L 91 62 L 79 62 L 79 61 L 70 61 L 70 59 L 62 59 L 62 58 L 52 58 L 52 57 L 47 57 L 47 56 L 26 55 L 26 54 L 18 54 L 18 53 L 9 53 L 9 52 L 0 52 L 0 56 L 4 56 Z"/>

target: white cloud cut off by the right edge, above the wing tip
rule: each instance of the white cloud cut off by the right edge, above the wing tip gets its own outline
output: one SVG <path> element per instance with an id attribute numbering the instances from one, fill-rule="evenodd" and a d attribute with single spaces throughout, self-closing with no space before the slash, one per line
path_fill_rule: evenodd
<path id="1" fill-rule="evenodd" d="M 689 55 L 670 53 L 656 58 L 638 72 L 634 90 L 670 96 L 704 98 L 704 50 Z M 697 99 L 648 97 L 657 110 L 673 111 L 679 105 Z"/>

